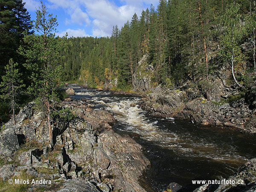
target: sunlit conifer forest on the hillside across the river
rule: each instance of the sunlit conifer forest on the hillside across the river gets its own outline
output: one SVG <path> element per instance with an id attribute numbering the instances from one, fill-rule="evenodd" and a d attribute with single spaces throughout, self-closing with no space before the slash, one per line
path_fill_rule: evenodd
<path id="1" fill-rule="evenodd" d="M 255 8 L 255 0 L 159 0 L 157 7 L 143 10 L 140 18 L 135 13 L 121 29 L 113 26 L 111 37 L 68 38 L 62 80 L 80 79 L 89 86 L 117 81 L 119 88 L 133 88 L 138 63 L 148 55 L 152 84 L 207 82 L 225 67 L 233 70 L 238 86 L 251 88 Z M 243 51 L 245 41 L 254 46 Z"/>

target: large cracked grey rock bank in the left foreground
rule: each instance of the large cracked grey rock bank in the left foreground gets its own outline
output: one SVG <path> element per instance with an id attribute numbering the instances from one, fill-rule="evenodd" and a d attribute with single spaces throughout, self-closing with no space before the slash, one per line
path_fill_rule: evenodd
<path id="1" fill-rule="evenodd" d="M 113 114 L 93 109 L 89 99 L 65 99 L 61 106 L 76 117 L 53 124 L 50 150 L 47 122 L 29 103 L 1 127 L 0 178 L 8 190 L 10 178 L 50 180 L 27 186 L 28 191 L 146 192 L 139 178 L 150 166 L 142 146 L 128 135 L 116 134 Z M 24 175 L 26 177 L 24 177 Z M 23 178 L 24 177 L 24 178 Z"/>

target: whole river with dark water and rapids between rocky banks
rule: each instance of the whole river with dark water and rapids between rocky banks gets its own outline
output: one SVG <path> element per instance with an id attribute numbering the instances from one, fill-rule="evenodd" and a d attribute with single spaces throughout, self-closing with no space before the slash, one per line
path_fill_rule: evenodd
<path id="1" fill-rule="evenodd" d="M 185 120 L 158 119 L 140 109 L 140 98 L 115 95 L 73 85 L 74 99 L 90 98 L 96 109 L 114 113 L 119 134 L 137 135 L 137 143 L 151 162 L 141 183 L 148 192 L 163 192 L 171 182 L 186 191 L 197 186 L 192 180 L 227 178 L 246 160 L 256 157 L 256 136 Z M 139 136 L 139 137 L 138 137 Z"/>

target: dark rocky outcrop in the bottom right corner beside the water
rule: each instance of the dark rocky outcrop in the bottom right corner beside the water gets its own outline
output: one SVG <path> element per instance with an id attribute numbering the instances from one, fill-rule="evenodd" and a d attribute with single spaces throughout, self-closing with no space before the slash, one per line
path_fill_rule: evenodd
<path id="1" fill-rule="evenodd" d="M 256 159 L 244 163 L 235 175 L 222 179 L 221 184 L 205 184 L 193 192 L 255 192 Z"/>

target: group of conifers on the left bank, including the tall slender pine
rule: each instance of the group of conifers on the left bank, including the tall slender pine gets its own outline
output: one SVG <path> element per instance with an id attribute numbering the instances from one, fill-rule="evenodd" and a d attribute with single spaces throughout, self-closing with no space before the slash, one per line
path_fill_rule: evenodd
<path id="1" fill-rule="evenodd" d="M 1 0 L 0 8 L 0 122 L 7 121 L 12 111 L 15 125 L 15 113 L 34 101 L 37 110 L 43 112 L 42 118 L 47 119 L 49 143 L 53 148 L 52 129 L 58 121 L 73 118 L 69 109 L 59 105 L 64 98 L 59 62 L 66 36 L 55 37 L 57 18 L 42 1 L 32 22 L 22 0 Z"/>

